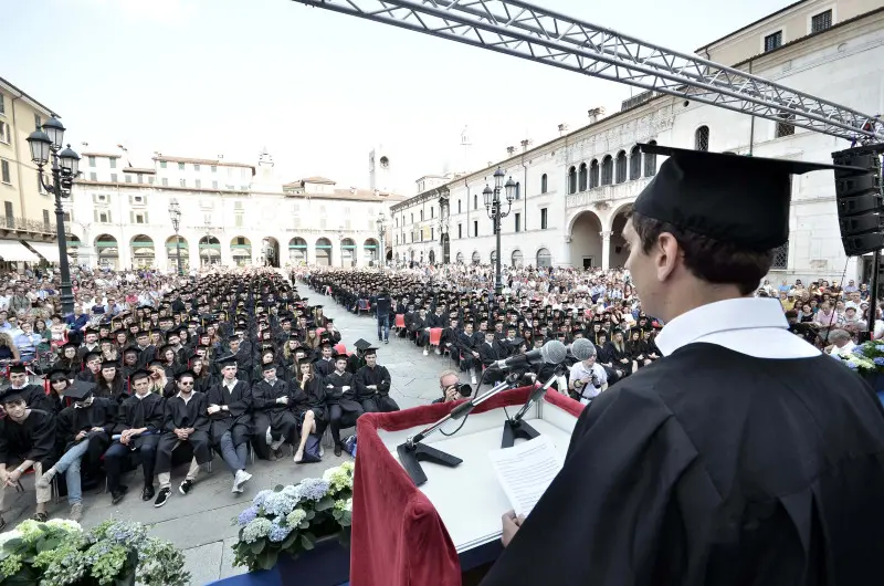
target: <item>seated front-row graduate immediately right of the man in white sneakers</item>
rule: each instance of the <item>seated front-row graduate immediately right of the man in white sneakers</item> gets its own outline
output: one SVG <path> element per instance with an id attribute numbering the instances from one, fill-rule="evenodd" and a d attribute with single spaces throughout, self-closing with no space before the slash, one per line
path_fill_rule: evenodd
<path id="1" fill-rule="evenodd" d="M 253 444 L 259 458 L 275 460 L 282 456 L 283 443 L 294 446 L 297 441 L 297 418 L 293 411 L 295 391 L 285 380 L 276 378 L 274 363 L 264 364 L 261 372 L 264 378 L 252 387 Z"/>

